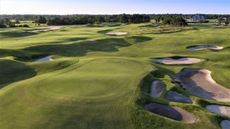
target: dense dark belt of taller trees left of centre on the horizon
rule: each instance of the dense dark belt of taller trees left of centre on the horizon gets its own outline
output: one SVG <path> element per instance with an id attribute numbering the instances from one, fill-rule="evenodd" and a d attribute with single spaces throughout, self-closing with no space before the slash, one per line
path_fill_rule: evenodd
<path id="1" fill-rule="evenodd" d="M 40 16 L 39 23 L 44 23 L 45 17 Z M 43 19 L 43 20 L 42 20 Z M 84 24 L 100 24 L 100 23 L 146 23 L 150 22 L 148 15 L 80 15 L 80 16 L 59 16 L 48 18 L 46 23 L 48 25 L 84 25 Z"/>

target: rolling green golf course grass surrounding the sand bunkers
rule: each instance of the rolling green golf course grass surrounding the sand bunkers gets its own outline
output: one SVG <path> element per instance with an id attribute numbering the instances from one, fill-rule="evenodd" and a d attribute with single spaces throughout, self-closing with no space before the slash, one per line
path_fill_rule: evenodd
<path id="1" fill-rule="evenodd" d="M 194 106 L 170 103 L 199 116 L 200 122 L 192 126 L 159 117 L 141 107 L 148 102 L 165 102 L 147 95 L 152 80 L 164 80 L 171 89 L 170 78 L 163 73 L 178 72 L 186 67 L 152 64 L 148 61 L 152 57 L 181 55 L 205 59 L 191 67 L 212 70 L 220 84 L 230 87 L 226 85 L 230 75 L 229 48 L 220 52 L 185 49 L 195 44 L 228 47 L 230 28 L 193 26 L 187 29 L 173 28 L 168 32 L 168 27 L 159 30 L 155 26 L 123 25 L 66 27 L 40 34 L 22 33 L 24 29 L 2 30 L 0 53 L 4 57 L 18 53 L 33 57 L 34 53 L 45 53 L 55 55 L 57 61 L 12 64 L 11 67 L 19 67 L 19 72 L 12 69 L 10 73 L 24 78 L 2 81 L 12 84 L 4 83 L 0 89 L 0 129 L 219 128 L 218 120 L 223 118 L 205 111 L 203 103 Z M 132 36 L 104 35 L 108 30 L 128 31 Z M 166 32 L 157 34 L 159 31 Z M 36 71 L 36 76 L 29 78 L 32 76 L 28 74 L 32 73 L 20 72 L 24 68 L 22 64 Z M 151 71 L 155 72 L 149 74 Z M 27 80 L 19 81 L 22 79 Z M 193 99 L 200 102 L 198 98 Z"/>

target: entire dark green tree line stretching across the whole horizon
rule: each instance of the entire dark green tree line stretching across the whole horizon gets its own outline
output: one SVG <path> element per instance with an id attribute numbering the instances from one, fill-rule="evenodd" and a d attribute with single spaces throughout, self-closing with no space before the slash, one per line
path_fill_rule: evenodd
<path id="1" fill-rule="evenodd" d="M 206 19 L 223 18 L 229 22 L 230 15 L 201 14 Z M 193 14 L 120 14 L 120 15 L 0 15 L 0 27 L 15 27 L 20 20 L 34 21 L 37 24 L 47 25 L 84 25 L 100 23 L 147 23 L 155 20 L 157 23 L 173 26 L 186 26 L 186 19 L 192 18 Z M 14 21 L 12 21 L 14 20 Z M 19 25 L 26 27 L 26 25 Z"/>

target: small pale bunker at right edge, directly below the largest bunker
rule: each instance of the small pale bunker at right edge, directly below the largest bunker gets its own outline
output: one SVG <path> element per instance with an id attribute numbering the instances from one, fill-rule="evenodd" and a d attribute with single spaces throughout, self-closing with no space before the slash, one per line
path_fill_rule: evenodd
<path id="1" fill-rule="evenodd" d="M 221 116 L 230 117 L 230 107 L 220 105 L 208 105 L 206 109 Z"/>

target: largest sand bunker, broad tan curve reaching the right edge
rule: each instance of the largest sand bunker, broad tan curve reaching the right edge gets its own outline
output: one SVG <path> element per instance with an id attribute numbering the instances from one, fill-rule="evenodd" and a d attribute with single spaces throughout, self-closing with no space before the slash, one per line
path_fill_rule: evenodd
<path id="1" fill-rule="evenodd" d="M 184 68 L 174 78 L 191 94 L 210 100 L 230 102 L 230 89 L 217 84 L 211 71 L 198 68 Z"/>

